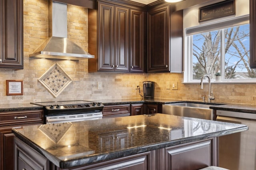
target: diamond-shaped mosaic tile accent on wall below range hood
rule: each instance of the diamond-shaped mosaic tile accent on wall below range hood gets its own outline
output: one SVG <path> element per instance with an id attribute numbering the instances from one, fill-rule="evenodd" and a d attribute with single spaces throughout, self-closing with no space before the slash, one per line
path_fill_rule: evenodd
<path id="1" fill-rule="evenodd" d="M 56 98 L 72 82 L 72 79 L 56 63 L 38 81 Z"/>

